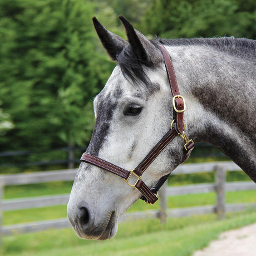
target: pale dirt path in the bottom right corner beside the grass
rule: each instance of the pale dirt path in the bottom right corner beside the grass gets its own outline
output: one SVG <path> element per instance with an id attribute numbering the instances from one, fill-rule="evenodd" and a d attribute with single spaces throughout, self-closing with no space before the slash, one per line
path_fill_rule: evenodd
<path id="1" fill-rule="evenodd" d="M 193 256 L 256 256 L 256 223 L 221 233 L 218 240 Z"/>

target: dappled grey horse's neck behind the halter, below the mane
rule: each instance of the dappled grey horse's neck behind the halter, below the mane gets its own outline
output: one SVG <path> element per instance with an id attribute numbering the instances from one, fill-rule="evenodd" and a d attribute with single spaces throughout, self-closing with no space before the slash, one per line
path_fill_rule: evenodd
<path id="1" fill-rule="evenodd" d="M 219 147 L 256 182 L 255 65 L 205 47 L 169 52 L 188 99 L 184 118 L 190 137 Z"/>

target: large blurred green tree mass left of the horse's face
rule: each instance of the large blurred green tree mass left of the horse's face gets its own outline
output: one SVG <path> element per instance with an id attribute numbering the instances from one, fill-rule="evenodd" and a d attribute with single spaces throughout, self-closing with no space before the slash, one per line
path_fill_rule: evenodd
<path id="1" fill-rule="evenodd" d="M 88 102 L 114 67 L 92 26 L 96 9 L 83 0 L 0 2 L 0 101 L 14 124 L 0 137 L 1 151 L 90 139 Z"/>

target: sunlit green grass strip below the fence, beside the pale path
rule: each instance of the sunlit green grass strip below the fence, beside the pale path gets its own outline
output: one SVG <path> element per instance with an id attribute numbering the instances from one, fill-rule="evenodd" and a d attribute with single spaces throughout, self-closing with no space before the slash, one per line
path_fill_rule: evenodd
<path id="1" fill-rule="evenodd" d="M 220 232 L 255 221 L 255 212 L 230 214 L 221 221 L 215 215 L 169 219 L 166 225 L 141 220 L 121 223 L 116 237 L 103 242 L 78 239 L 72 229 L 47 230 L 3 238 L 3 255 L 189 256 L 218 238 Z"/>

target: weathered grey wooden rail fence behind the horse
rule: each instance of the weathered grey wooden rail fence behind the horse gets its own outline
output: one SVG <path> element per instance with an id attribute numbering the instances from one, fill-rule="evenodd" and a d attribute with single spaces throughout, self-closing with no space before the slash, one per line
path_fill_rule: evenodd
<path id="1" fill-rule="evenodd" d="M 127 213 L 120 221 L 130 221 L 135 219 L 159 218 L 165 221 L 166 218 L 179 217 L 193 214 L 216 213 L 218 218 L 223 218 L 226 212 L 256 208 L 255 203 L 245 204 L 225 204 L 225 191 L 253 190 L 256 184 L 253 181 L 225 182 L 225 171 L 240 170 L 232 162 L 215 162 L 203 164 L 180 165 L 172 175 L 191 174 L 215 171 L 215 183 L 197 184 L 185 186 L 167 187 L 166 184 L 160 190 L 160 209 Z M 0 235 L 13 235 L 18 233 L 35 232 L 48 228 L 70 227 L 67 218 L 36 221 L 31 223 L 2 225 L 2 212 L 10 210 L 40 208 L 45 206 L 67 204 L 69 195 L 37 196 L 33 198 L 3 200 L 3 189 L 6 185 L 36 184 L 52 181 L 70 181 L 75 178 L 77 169 L 43 171 L 39 173 L 0 175 Z M 196 193 L 216 192 L 216 204 L 196 206 L 189 208 L 167 208 L 167 197 L 170 195 L 184 195 Z"/>

